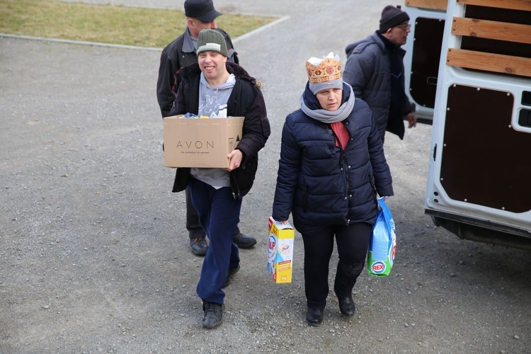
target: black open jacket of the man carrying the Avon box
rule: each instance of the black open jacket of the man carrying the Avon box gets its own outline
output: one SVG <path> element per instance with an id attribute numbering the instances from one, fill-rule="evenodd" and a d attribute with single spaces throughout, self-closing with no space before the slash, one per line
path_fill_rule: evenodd
<path id="1" fill-rule="evenodd" d="M 234 198 L 241 199 L 253 186 L 258 169 L 258 151 L 264 147 L 271 130 L 262 92 L 256 87 L 256 79 L 238 64 L 227 62 L 226 65 L 229 73 L 236 76 L 236 84 L 227 102 L 227 115 L 245 117 L 241 139 L 236 147 L 241 150 L 243 159 L 239 168 L 230 172 L 232 194 Z M 199 64 L 191 64 L 181 69 L 179 74 L 182 81 L 170 115 L 197 115 L 201 74 Z M 173 192 L 185 190 L 189 178 L 189 168 L 177 169 Z"/>

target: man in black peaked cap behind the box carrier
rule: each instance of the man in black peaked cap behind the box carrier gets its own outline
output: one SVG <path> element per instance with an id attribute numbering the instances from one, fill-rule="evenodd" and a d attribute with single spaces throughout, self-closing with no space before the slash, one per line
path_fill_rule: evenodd
<path id="1" fill-rule="evenodd" d="M 227 43 L 227 61 L 239 63 L 231 38 L 216 25 L 215 20 L 221 16 L 221 13 L 216 11 L 212 0 L 186 0 L 184 1 L 184 12 L 186 30 L 166 46 L 161 54 L 159 79 L 156 83 L 156 98 L 159 101 L 162 118 L 168 117 L 173 107 L 179 83 L 179 70 L 189 64 L 198 62 L 198 57 L 195 53 L 201 30 L 210 28 L 221 33 Z M 188 193 L 186 193 L 186 229 L 188 229 L 190 236 L 192 253 L 197 256 L 205 256 L 208 249 L 205 231 L 199 224 L 198 212 L 190 202 Z M 241 249 L 248 249 L 256 244 L 256 239 L 241 234 L 239 228 L 236 227 L 234 243 Z"/>

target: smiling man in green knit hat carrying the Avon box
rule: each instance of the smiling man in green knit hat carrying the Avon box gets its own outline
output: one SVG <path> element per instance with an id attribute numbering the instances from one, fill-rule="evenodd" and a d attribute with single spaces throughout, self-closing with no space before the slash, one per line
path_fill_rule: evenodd
<path id="1" fill-rule="evenodd" d="M 240 142 L 227 155 L 229 168 L 179 168 L 173 184 L 173 192 L 188 187 L 200 224 L 210 238 L 197 292 L 205 312 L 202 325 L 214 328 L 223 319 L 222 288 L 229 285 L 240 267 L 238 246 L 232 236 L 239 222 L 241 198 L 251 190 L 258 169 L 258 151 L 270 135 L 270 126 L 256 79 L 238 64 L 227 62 L 227 44 L 222 34 L 202 30 L 197 53 L 198 63 L 181 69 L 181 84 L 170 115 L 212 117 L 226 105 L 227 116 L 245 117 Z"/>

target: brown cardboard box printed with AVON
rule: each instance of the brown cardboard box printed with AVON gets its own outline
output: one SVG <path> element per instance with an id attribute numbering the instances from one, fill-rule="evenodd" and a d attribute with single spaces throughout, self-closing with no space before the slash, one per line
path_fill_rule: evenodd
<path id="1" fill-rule="evenodd" d="M 164 166 L 229 167 L 227 154 L 241 139 L 244 117 L 164 118 Z"/>

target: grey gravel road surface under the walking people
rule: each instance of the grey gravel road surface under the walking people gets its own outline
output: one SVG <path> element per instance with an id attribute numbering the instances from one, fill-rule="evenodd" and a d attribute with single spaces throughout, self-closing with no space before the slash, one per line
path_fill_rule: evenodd
<path id="1" fill-rule="evenodd" d="M 275 285 L 266 270 L 280 130 L 305 60 L 333 51 L 344 62 L 389 3 L 215 4 L 283 18 L 235 40 L 263 81 L 273 132 L 241 215 L 258 244 L 241 251 L 224 324 L 201 326 L 202 258 L 189 251 L 184 196 L 170 193 L 161 151 L 159 51 L 0 37 L 0 353 L 531 353 L 530 253 L 460 240 L 423 212 L 429 125 L 386 137 L 392 274 L 362 273 L 353 319 L 331 294 L 323 324 L 307 326 L 299 234 L 293 282 Z"/>

